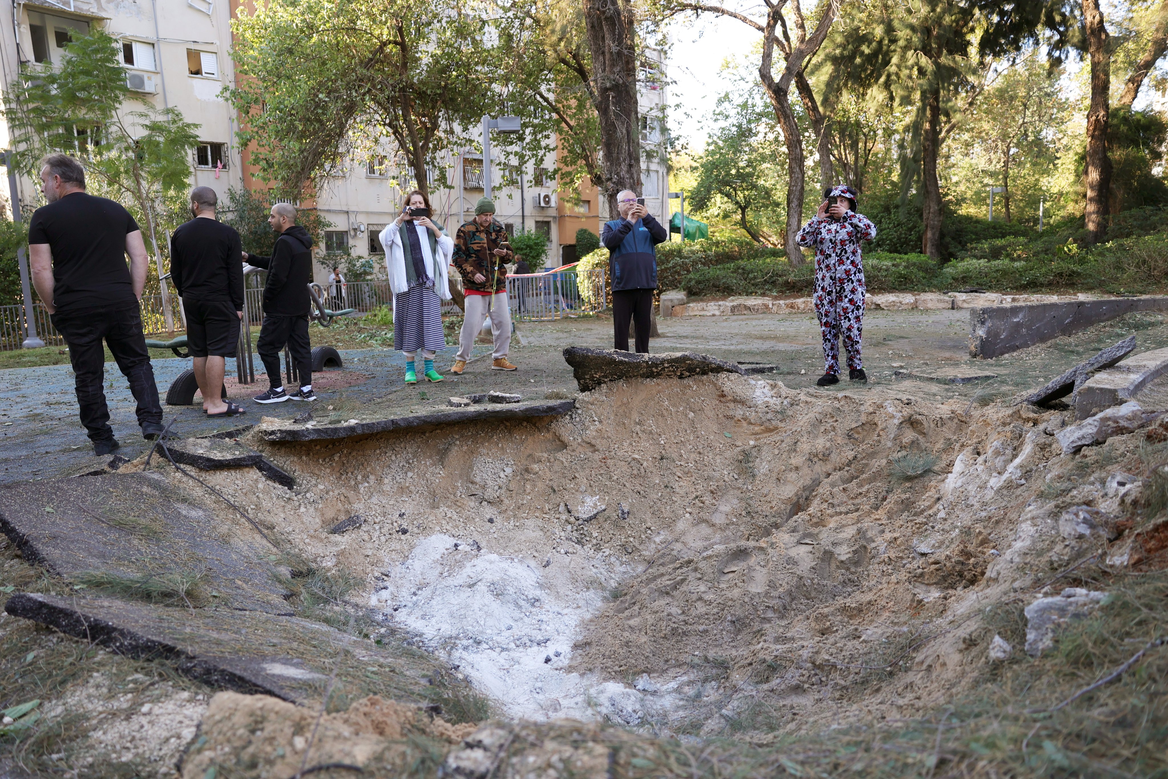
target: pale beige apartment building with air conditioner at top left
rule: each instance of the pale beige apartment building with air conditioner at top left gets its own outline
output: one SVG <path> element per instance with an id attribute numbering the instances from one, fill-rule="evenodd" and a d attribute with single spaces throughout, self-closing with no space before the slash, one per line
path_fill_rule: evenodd
<path id="1" fill-rule="evenodd" d="M 21 63 L 60 64 L 75 33 L 104 28 L 121 44 L 126 84 L 158 107 L 176 107 L 200 125 L 192 155 L 192 186 L 221 196 L 243 183 L 235 110 L 221 97 L 235 78 L 230 9 L 214 0 L 23 0 L 0 9 L 0 76 L 7 90 Z M 134 110 L 133 105 L 127 109 Z M 0 142 L 9 142 L 0 119 Z M 18 182 L 23 203 L 34 202 L 40 182 Z M 7 195 L 7 193 L 5 193 Z M 6 197 L 7 200 L 7 197 Z"/>

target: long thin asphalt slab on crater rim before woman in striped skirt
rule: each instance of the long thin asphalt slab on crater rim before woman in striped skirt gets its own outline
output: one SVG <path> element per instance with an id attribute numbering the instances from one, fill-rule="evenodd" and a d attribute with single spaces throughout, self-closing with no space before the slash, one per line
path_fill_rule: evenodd
<path id="1" fill-rule="evenodd" d="M 450 425 L 478 419 L 517 419 L 528 417 L 562 417 L 571 413 L 576 401 L 524 401 L 520 403 L 482 403 L 465 408 L 431 406 L 413 413 L 362 422 L 349 419 L 341 423 L 304 424 L 265 417 L 256 425 L 255 432 L 270 441 L 306 441 L 353 436 L 383 433 L 390 430 L 422 427 L 425 425 Z"/>

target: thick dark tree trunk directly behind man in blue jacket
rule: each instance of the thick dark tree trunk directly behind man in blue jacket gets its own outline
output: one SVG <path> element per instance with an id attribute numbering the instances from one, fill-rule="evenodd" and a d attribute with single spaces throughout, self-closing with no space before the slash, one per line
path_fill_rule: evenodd
<path id="1" fill-rule="evenodd" d="M 637 105 L 637 19 L 630 0 L 585 0 L 592 83 L 600 124 L 600 196 L 617 213 L 617 194 L 641 193 L 641 132 Z"/>

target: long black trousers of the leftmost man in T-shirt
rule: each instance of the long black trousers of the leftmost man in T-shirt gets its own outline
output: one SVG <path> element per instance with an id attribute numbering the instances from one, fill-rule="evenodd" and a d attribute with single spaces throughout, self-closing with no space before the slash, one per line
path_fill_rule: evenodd
<path id="1" fill-rule="evenodd" d="M 105 403 L 105 349 L 110 353 L 130 381 L 130 391 L 138 402 L 138 424 L 161 424 L 162 404 L 158 399 L 154 369 L 146 350 L 142 334 L 142 318 L 137 305 L 121 308 L 86 308 L 83 311 L 57 311 L 51 317 L 53 326 L 69 345 L 69 362 L 76 377 L 77 405 L 81 406 L 81 423 L 93 441 L 110 440 L 110 408 Z"/>

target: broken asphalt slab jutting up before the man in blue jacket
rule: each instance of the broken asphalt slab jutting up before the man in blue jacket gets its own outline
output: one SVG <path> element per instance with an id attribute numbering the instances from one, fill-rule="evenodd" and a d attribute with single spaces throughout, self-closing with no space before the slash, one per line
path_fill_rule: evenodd
<path id="1" fill-rule="evenodd" d="M 572 367 L 582 392 L 626 378 L 688 378 L 705 374 L 745 373 L 738 363 L 695 352 L 633 354 L 570 346 L 564 349 L 564 360 Z"/>

